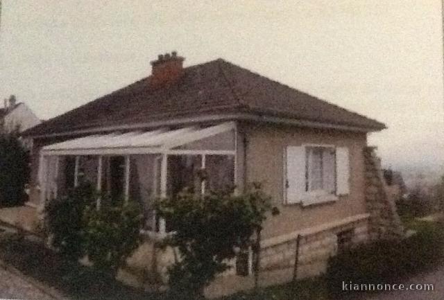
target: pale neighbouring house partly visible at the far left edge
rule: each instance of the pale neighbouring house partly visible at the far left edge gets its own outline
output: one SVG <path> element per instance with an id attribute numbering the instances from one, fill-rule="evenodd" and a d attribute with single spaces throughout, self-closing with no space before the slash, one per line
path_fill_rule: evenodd
<path id="1" fill-rule="evenodd" d="M 25 103 L 17 103 L 17 99 L 12 95 L 4 100 L 4 108 L 0 109 L 0 124 L 6 132 L 23 132 L 40 124 L 40 119 Z"/>

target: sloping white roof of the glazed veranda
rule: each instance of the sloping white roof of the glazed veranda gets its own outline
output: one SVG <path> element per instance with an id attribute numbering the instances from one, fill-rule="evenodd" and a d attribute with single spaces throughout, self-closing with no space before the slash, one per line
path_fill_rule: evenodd
<path id="1" fill-rule="evenodd" d="M 61 143 L 46 145 L 42 155 L 130 155 L 171 152 L 173 148 L 199 141 L 234 129 L 233 122 L 211 127 L 183 127 L 177 130 L 135 131 L 126 133 L 94 134 Z M 224 150 L 234 154 L 233 150 Z"/>

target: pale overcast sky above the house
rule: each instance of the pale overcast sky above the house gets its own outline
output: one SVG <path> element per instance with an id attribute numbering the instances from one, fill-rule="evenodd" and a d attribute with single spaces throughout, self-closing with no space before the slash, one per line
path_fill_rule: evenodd
<path id="1" fill-rule="evenodd" d="M 384 164 L 444 165 L 439 0 L 3 0 L 0 97 L 52 118 L 172 50 L 224 58 L 388 125 Z"/>

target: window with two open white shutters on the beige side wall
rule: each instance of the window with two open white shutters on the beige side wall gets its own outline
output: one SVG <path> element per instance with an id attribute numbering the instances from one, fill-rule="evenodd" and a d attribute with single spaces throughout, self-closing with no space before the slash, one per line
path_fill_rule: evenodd
<path id="1" fill-rule="evenodd" d="M 309 205 L 337 200 L 338 195 L 348 195 L 348 148 L 330 145 L 289 146 L 285 158 L 287 203 Z"/>

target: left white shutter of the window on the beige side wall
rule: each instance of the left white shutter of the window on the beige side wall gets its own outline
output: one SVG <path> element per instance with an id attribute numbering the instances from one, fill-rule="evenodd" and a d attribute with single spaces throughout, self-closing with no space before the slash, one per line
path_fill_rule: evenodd
<path id="1" fill-rule="evenodd" d="M 305 194 L 305 147 L 287 147 L 287 203 L 298 203 Z"/>

